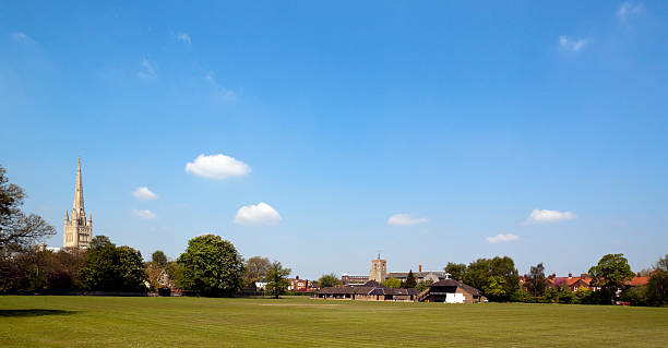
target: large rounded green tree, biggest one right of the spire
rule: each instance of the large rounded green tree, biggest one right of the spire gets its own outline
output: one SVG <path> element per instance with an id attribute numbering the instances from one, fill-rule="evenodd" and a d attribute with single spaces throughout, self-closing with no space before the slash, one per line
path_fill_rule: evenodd
<path id="1" fill-rule="evenodd" d="M 204 235 L 188 241 L 177 260 L 183 269 L 181 286 L 205 296 L 231 296 L 240 288 L 243 261 L 232 243 Z"/>

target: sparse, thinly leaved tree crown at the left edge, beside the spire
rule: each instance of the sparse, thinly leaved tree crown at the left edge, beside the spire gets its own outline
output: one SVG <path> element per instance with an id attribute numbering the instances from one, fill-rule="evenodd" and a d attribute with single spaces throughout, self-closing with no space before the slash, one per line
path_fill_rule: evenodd
<path id="1" fill-rule="evenodd" d="M 56 235 L 56 229 L 39 215 L 21 212 L 25 193 L 21 187 L 8 183 L 4 175 L 0 166 L 0 257 L 9 257 L 8 253 L 27 250 L 35 242 Z"/>

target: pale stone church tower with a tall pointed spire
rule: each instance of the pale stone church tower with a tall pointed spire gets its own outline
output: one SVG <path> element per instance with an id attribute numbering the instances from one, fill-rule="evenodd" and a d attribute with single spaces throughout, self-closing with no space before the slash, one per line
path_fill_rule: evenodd
<path id="1" fill-rule="evenodd" d="M 93 214 L 86 212 L 83 206 L 83 184 L 81 183 L 81 158 L 76 168 L 76 184 L 74 187 L 74 204 L 72 205 L 72 219 L 65 211 L 64 232 L 62 239 L 63 248 L 88 248 L 93 238 Z"/>

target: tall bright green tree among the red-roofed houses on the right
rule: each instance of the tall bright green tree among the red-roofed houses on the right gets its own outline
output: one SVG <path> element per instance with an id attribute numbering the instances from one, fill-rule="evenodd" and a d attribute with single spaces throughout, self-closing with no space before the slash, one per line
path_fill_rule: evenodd
<path id="1" fill-rule="evenodd" d="M 589 268 L 592 285 L 601 287 L 605 296 L 615 302 L 617 291 L 624 288 L 624 283 L 631 280 L 635 273 L 623 254 L 607 254 L 596 266 Z"/>

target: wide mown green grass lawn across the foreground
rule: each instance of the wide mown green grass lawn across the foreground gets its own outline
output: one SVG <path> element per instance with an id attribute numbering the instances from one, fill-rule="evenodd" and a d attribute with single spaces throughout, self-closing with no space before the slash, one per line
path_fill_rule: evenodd
<path id="1" fill-rule="evenodd" d="M 0 297 L 1 347 L 667 347 L 668 309 Z"/>

